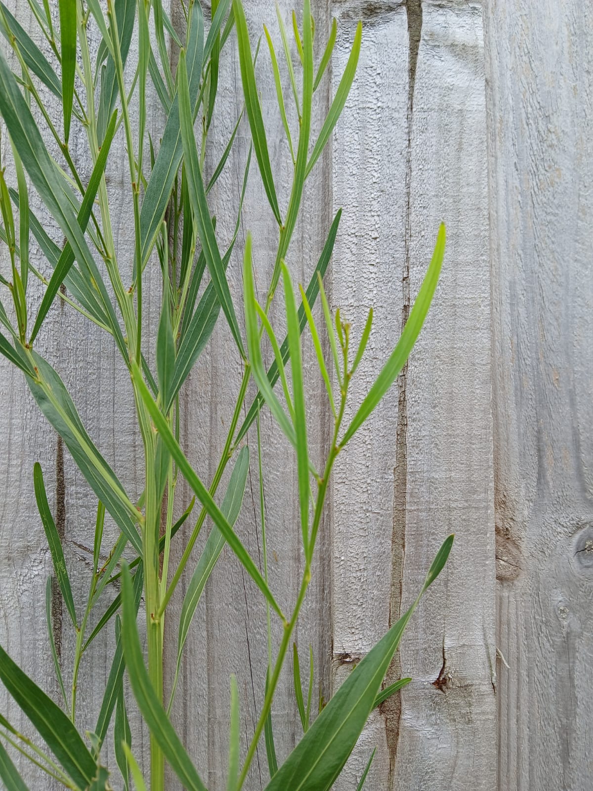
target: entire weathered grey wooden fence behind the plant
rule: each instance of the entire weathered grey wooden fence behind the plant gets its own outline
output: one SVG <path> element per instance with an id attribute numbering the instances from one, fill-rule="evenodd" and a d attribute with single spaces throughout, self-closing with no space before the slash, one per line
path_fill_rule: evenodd
<path id="1" fill-rule="evenodd" d="M 8 5 L 34 29 L 25 0 Z M 170 5 L 175 20 L 176 0 Z M 288 19 L 291 3 L 280 5 Z M 245 6 L 254 32 L 274 17 L 272 0 Z M 593 785 L 593 6 L 582 0 L 315 0 L 312 6 L 319 31 L 329 31 L 332 16 L 340 22 L 333 90 L 360 18 L 364 40 L 330 154 L 308 183 L 309 209 L 290 263 L 308 278 L 343 206 L 330 296 L 359 327 L 368 306 L 376 309 L 358 395 L 401 331 L 438 222 L 448 225 L 444 274 L 420 342 L 336 470 L 297 635 L 302 651 L 313 645 L 326 697 L 398 619 L 451 531 L 455 550 L 390 670 L 391 679 L 405 673 L 413 683 L 374 713 L 336 787 L 356 787 L 377 745 L 368 778 L 373 791 L 587 791 Z M 274 175 L 282 184 L 285 159 L 274 143 L 281 127 L 265 61 L 259 81 Z M 228 138 L 240 112 L 238 70 L 232 44 L 221 66 L 217 141 Z M 330 93 L 328 87 L 317 128 Z M 157 100 L 149 123 L 158 138 Z M 236 195 L 248 142 L 248 128 L 241 127 L 214 195 L 223 234 L 234 224 L 237 206 L 229 196 Z M 84 165 L 83 141 L 72 145 Z M 120 161 L 110 166 L 111 187 L 123 180 L 125 156 L 122 144 Z M 115 227 L 121 251 L 133 235 L 124 200 Z M 265 206 L 252 174 L 243 227 L 255 233 L 260 288 L 270 278 L 276 233 Z M 237 298 L 238 255 L 229 267 Z M 146 290 L 154 334 L 161 294 L 157 285 Z M 114 350 L 66 309 L 55 308 L 47 322 L 43 354 L 65 377 L 89 433 L 130 493 L 142 489 L 142 445 L 128 428 L 133 399 Z M 183 444 L 206 479 L 241 373 L 218 331 L 183 393 Z M 329 438 L 318 384 L 312 382 L 309 401 L 312 443 L 320 452 Z M 54 467 L 51 505 L 76 589 L 85 587 L 92 561 L 93 498 L 3 358 L 0 402 L 0 641 L 55 693 L 44 615 L 51 558 L 31 495 L 33 461 L 43 460 L 49 481 Z M 272 582 L 293 596 L 300 562 L 296 470 L 285 446 L 269 441 L 270 421 L 263 430 L 267 463 L 278 470 L 265 484 Z M 258 520 L 258 487 L 248 483 L 238 529 L 254 557 Z M 73 642 L 60 639 L 60 613 L 54 616 L 67 661 Z M 195 620 L 173 720 L 209 788 L 218 791 L 229 674 L 240 679 L 245 743 L 265 681 L 263 602 L 232 554 L 221 558 Z M 167 645 L 175 646 L 175 617 L 168 626 Z M 86 717 L 89 727 L 112 648 L 97 641 L 83 670 L 80 721 Z M 174 660 L 171 649 L 169 670 Z M 293 700 L 289 673 L 278 700 Z M 26 728 L 3 690 L 0 701 L 0 711 Z M 278 704 L 274 718 L 282 757 L 295 744 L 296 705 Z M 146 759 L 146 734 L 138 720 L 132 726 L 134 751 Z M 265 780 L 261 752 L 250 789 Z M 177 787 L 173 778 L 170 787 Z"/>

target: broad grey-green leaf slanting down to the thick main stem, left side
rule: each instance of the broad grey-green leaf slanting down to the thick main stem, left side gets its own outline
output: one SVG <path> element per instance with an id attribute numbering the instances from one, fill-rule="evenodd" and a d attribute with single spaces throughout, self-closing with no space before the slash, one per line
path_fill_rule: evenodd
<path id="1" fill-rule="evenodd" d="M 70 394 L 55 370 L 32 352 L 43 384 L 28 377 L 27 384 L 40 410 L 66 443 L 77 467 L 97 498 L 114 518 L 138 554 L 142 541 L 130 517 L 138 517 L 138 509 L 130 502 L 122 484 L 86 433 Z"/>

